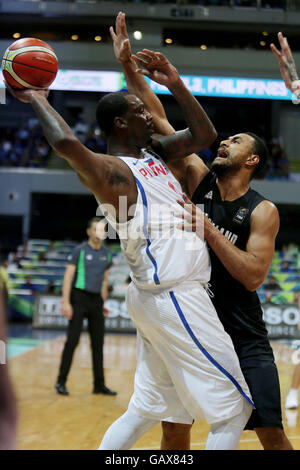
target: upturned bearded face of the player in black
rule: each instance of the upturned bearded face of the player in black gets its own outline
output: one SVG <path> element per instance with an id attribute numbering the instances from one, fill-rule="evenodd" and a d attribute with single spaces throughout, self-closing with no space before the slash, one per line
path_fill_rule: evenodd
<path id="1" fill-rule="evenodd" d="M 217 174 L 237 171 L 253 155 L 254 139 L 248 134 L 236 134 L 223 140 L 218 148 L 218 156 L 212 163 Z"/>

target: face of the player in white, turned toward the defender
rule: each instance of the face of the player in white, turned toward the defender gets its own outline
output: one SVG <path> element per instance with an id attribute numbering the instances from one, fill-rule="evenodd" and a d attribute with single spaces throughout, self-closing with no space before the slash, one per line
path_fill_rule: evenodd
<path id="1" fill-rule="evenodd" d="M 144 103 L 135 95 L 127 95 L 129 103 L 126 119 L 128 134 L 136 145 L 147 145 L 154 132 L 152 116 L 145 109 Z"/>

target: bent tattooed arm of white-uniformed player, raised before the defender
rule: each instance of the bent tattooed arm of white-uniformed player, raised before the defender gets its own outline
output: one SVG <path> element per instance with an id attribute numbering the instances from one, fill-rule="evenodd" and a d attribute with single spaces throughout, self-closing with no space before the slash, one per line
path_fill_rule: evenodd
<path id="1" fill-rule="evenodd" d="M 143 68 L 139 73 L 165 85 L 179 103 L 188 128 L 153 139 L 153 148 L 166 160 L 183 158 L 209 147 L 217 132 L 196 98 L 186 88 L 176 68 L 159 52 L 144 49 L 133 56 Z"/>

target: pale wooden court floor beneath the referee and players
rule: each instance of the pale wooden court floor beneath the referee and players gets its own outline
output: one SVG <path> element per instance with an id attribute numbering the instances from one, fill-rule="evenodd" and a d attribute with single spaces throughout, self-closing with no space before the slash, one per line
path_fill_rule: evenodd
<path id="1" fill-rule="evenodd" d="M 70 395 L 57 395 L 57 377 L 64 336 L 9 359 L 19 407 L 18 447 L 26 450 L 97 449 L 105 430 L 127 408 L 133 391 L 135 336 L 106 335 L 106 384 L 115 397 L 93 395 L 89 338 L 82 334 L 68 380 Z M 291 381 L 292 350 L 272 343 L 284 402 Z M 283 407 L 284 426 L 295 449 L 300 449 L 300 413 Z M 203 449 L 208 434 L 205 421 L 194 424 L 191 448 Z M 135 449 L 159 449 L 160 425 L 141 438 Z M 245 431 L 239 449 L 261 449 L 256 434 Z"/>

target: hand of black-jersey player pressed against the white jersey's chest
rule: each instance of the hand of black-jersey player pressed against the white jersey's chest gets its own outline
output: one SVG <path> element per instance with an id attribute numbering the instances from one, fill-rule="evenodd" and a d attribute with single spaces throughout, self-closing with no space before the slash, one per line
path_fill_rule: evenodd
<path id="1" fill-rule="evenodd" d="M 185 195 L 182 195 L 183 199 L 178 199 L 178 204 L 184 209 L 181 214 L 175 214 L 177 217 L 182 218 L 182 223 L 178 225 L 178 228 L 188 232 L 196 232 L 198 237 L 205 238 L 205 230 L 207 225 L 210 223 L 204 212 Z"/>

